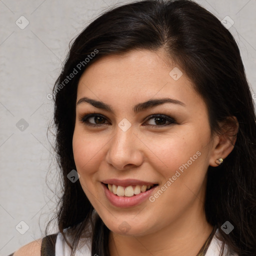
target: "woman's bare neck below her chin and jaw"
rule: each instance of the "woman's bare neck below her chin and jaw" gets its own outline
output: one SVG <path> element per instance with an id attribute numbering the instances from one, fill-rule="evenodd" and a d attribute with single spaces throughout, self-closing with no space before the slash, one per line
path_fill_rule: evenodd
<path id="1" fill-rule="evenodd" d="M 110 231 L 110 256 L 196 256 L 213 229 L 199 205 L 154 233 L 131 236 Z"/>

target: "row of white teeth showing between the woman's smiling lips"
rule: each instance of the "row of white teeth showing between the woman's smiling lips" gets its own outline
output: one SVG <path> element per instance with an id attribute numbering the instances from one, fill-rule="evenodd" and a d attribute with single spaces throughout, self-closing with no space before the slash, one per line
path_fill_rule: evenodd
<path id="1" fill-rule="evenodd" d="M 127 196 L 131 197 L 136 194 L 143 193 L 157 184 L 150 184 L 150 185 L 129 185 L 129 186 L 117 186 L 115 184 L 105 184 L 103 183 L 110 192 L 118 196 Z"/>

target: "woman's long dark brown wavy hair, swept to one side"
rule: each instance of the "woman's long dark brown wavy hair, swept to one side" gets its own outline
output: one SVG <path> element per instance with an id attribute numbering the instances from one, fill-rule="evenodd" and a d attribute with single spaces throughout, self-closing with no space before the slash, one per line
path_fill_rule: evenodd
<path id="1" fill-rule="evenodd" d="M 93 206 L 80 183 L 67 178 L 76 169 L 72 136 L 78 80 L 101 56 L 133 49 L 163 49 L 166 58 L 182 68 L 204 99 L 212 133 L 221 132 L 219 122 L 228 116 L 238 120 L 239 131 L 232 152 L 220 166 L 208 167 L 205 214 L 207 221 L 218 227 L 223 244 L 240 256 L 256 255 L 255 112 L 239 49 L 231 33 L 193 1 L 143 0 L 107 10 L 70 42 L 69 49 L 52 92 L 54 148 L 63 188 L 55 217 L 72 254 L 90 226 L 91 255 L 109 255 L 109 229 L 97 215 L 93 217 Z M 72 78 L 71 73 L 75 73 Z M 221 229 L 227 220 L 234 226 L 229 234 Z M 67 240 L 65 229 L 72 241 Z"/>

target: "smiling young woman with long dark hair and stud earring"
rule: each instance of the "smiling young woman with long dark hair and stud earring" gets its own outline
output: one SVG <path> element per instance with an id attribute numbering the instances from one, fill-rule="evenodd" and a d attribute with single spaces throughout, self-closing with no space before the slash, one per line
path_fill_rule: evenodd
<path id="1" fill-rule="evenodd" d="M 255 113 L 239 49 L 188 0 L 111 9 L 53 88 L 59 232 L 15 255 L 256 255 Z"/>

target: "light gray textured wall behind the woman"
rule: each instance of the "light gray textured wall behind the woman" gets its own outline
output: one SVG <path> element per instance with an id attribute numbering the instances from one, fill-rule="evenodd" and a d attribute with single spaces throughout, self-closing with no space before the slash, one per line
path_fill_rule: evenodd
<path id="1" fill-rule="evenodd" d="M 49 134 L 47 139 L 46 134 L 53 102 L 46 95 L 60 72 L 68 43 L 99 13 L 125 2 L 131 0 L 0 0 L 1 256 L 41 237 L 56 204 L 53 137 Z M 228 15 L 234 21 L 229 30 L 256 91 L 256 0 L 196 2 L 219 20 Z M 25 24 L 22 15 L 29 21 L 24 29 L 19 27 Z M 54 225 L 51 230 L 56 230 Z"/>

